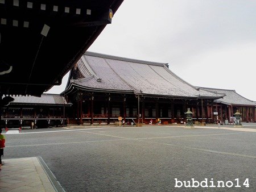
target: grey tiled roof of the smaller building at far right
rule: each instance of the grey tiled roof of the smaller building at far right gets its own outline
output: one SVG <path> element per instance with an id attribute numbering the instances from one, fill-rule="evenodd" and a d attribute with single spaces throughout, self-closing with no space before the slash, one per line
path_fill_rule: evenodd
<path id="1" fill-rule="evenodd" d="M 254 101 L 250 101 L 240 94 L 236 93 L 236 90 L 228 89 L 216 89 L 209 87 L 200 87 L 204 90 L 214 91 L 216 93 L 225 94 L 224 98 L 217 99 L 215 102 L 224 103 L 226 105 L 237 105 L 237 106 L 256 106 Z"/>

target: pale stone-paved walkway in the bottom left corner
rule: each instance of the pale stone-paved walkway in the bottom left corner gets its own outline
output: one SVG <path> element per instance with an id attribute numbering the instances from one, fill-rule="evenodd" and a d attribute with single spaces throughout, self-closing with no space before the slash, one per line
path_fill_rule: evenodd
<path id="1" fill-rule="evenodd" d="M 3 159 L 0 191 L 64 191 L 41 157 Z"/>

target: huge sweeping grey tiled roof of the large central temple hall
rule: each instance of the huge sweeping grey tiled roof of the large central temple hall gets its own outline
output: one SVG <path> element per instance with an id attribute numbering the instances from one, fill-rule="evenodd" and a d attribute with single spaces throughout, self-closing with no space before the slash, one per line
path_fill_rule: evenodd
<path id="1" fill-rule="evenodd" d="M 168 64 L 127 59 L 86 52 L 76 68 L 80 78 L 71 78 L 72 85 L 84 89 L 129 91 L 143 95 L 177 98 L 220 98 L 224 94 L 199 89 L 185 82 L 168 68 Z M 73 79 L 72 79 L 73 78 Z"/>

